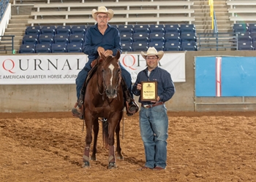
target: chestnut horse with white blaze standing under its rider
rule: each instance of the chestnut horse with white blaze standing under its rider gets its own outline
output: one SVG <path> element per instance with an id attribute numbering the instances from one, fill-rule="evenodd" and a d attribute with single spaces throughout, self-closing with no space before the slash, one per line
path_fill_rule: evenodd
<path id="1" fill-rule="evenodd" d="M 102 122 L 107 125 L 103 127 L 103 141 L 108 146 L 108 169 L 116 167 L 115 157 L 115 132 L 116 132 L 116 151 L 117 157 L 121 155 L 119 140 L 120 121 L 123 116 L 124 98 L 121 87 L 121 68 L 118 65 L 120 52 L 116 56 L 112 55 L 105 58 L 104 55 L 97 60 L 97 70 L 92 74 L 86 86 L 86 94 L 83 102 L 84 121 L 86 123 L 86 146 L 83 152 L 83 167 L 90 167 L 90 145 L 92 141 L 92 130 L 94 130 L 94 145 L 91 159 L 96 160 L 97 135 L 99 132 L 98 118 L 107 119 Z"/>

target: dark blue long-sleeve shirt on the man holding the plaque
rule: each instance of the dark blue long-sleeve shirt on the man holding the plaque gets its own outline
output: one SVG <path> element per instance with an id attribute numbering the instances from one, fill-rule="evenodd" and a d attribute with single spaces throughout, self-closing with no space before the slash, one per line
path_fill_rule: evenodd
<path id="1" fill-rule="evenodd" d="M 148 76 L 148 68 L 146 68 L 143 71 L 140 71 L 135 84 L 132 86 L 132 92 L 134 95 L 140 95 L 140 90 L 137 90 L 137 85 L 146 81 L 157 81 L 157 95 L 160 98 L 159 102 L 166 102 L 167 100 L 170 100 L 176 91 L 173 80 L 166 70 L 157 67 L 154 68 Z M 150 101 L 141 101 L 140 97 L 139 102 L 142 104 L 152 104 Z"/>

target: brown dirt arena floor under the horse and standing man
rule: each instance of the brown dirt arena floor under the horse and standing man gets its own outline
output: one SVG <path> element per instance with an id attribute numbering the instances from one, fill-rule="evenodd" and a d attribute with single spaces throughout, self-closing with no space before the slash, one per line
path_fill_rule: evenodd
<path id="1" fill-rule="evenodd" d="M 83 122 L 64 113 L 0 113 L 0 181 L 256 181 L 256 112 L 168 112 L 166 170 L 138 170 L 145 156 L 138 114 L 124 116 L 124 159 L 82 168 Z M 122 124 L 123 125 L 123 124 Z"/>

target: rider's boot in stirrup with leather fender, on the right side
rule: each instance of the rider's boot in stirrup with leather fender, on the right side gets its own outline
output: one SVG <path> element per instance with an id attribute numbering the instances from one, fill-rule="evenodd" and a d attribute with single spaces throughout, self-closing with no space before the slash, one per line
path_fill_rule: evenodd
<path id="1" fill-rule="evenodd" d="M 127 110 L 127 116 L 132 116 L 139 110 L 138 104 L 135 100 L 131 97 L 129 90 L 127 89 L 127 84 L 122 79 L 122 87 L 124 92 L 124 99 L 125 99 L 125 108 Z"/>

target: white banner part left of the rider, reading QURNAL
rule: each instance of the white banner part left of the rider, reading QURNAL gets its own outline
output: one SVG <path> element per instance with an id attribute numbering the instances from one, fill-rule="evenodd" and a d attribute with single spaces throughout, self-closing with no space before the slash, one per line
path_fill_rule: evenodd
<path id="1" fill-rule="evenodd" d="M 0 84 L 75 84 L 87 55 L 0 57 Z"/>

